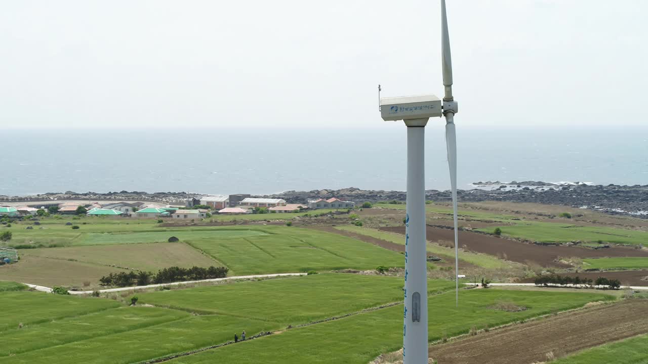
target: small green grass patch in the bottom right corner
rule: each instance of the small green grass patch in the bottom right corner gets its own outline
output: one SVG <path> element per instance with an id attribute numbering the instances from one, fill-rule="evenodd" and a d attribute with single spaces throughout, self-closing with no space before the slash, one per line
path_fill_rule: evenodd
<path id="1" fill-rule="evenodd" d="M 589 348 L 552 361 L 555 364 L 647 364 L 648 335 Z"/>

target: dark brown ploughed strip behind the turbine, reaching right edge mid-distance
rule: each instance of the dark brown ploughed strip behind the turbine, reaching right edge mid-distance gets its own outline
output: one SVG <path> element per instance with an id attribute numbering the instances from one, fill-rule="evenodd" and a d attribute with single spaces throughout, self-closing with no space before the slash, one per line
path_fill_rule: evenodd
<path id="1" fill-rule="evenodd" d="M 390 233 L 405 233 L 405 227 L 381 227 L 380 230 L 389 231 Z M 452 247 L 453 245 L 454 233 L 452 229 L 428 226 L 426 234 L 428 240 L 432 242 L 437 242 L 440 245 L 448 247 Z M 499 256 L 523 264 L 531 261 L 545 267 L 570 267 L 566 264 L 554 262 L 559 256 L 577 256 L 581 258 L 595 258 L 600 256 L 648 256 L 648 252 L 646 251 L 625 247 L 594 250 L 583 247 L 542 246 L 524 244 L 515 240 L 496 238 L 484 234 L 459 231 L 459 247 L 464 247 L 464 245 L 465 249 L 470 251 Z"/>

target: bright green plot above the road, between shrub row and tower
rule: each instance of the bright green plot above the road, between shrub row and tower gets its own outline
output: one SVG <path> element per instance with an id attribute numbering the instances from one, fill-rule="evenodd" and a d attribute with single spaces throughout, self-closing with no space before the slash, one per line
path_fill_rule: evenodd
<path id="1" fill-rule="evenodd" d="M 230 275 L 404 266 L 399 253 L 338 234 L 286 226 L 262 231 L 268 234 L 192 240 L 191 245 L 222 262 Z"/>

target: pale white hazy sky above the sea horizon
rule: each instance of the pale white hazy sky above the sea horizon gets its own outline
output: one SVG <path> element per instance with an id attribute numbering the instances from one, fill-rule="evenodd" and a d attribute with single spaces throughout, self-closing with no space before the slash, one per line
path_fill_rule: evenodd
<path id="1" fill-rule="evenodd" d="M 645 14 L 448 0 L 457 124 L 645 124 Z M 380 127 L 379 82 L 443 93 L 439 23 L 437 0 L 5 0 L 0 126 Z"/>

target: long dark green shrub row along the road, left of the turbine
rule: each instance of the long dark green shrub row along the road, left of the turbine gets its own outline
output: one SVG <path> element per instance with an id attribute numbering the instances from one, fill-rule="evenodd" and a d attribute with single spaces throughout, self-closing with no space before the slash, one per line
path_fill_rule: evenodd
<path id="1" fill-rule="evenodd" d="M 202 280 L 227 277 L 226 267 L 168 267 L 160 269 L 157 273 L 147 271 L 131 271 L 110 273 L 99 279 L 102 286 L 146 286 L 148 284 L 161 284 L 171 282 L 182 282 L 185 280 Z"/>

